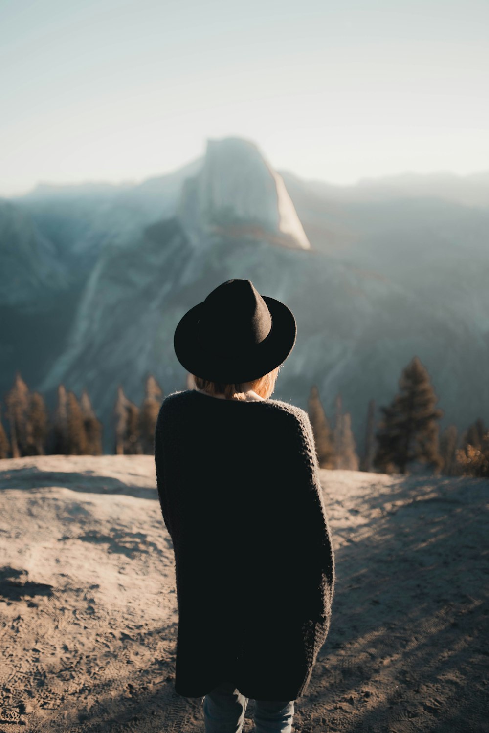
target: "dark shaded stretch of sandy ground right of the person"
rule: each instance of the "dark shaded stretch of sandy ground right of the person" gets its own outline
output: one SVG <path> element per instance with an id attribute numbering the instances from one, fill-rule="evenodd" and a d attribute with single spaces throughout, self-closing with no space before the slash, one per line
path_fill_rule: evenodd
<path id="1" fill-rule="evenodd" d="M 328 511 L 342 497 L 327 483 Z M 331 731 L 488 730 L 488 490 L 397 476 L 359 493 L 365 521 L 337 536 L 331 630 L 310 686 Z"/>

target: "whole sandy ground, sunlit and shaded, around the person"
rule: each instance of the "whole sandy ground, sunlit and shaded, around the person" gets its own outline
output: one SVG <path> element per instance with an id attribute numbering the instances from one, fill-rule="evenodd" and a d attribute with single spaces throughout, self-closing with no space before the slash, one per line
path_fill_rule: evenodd
<path id="1" fill-rule="evenodd" d="M 321 480 L 337 592 L 295 732 L 489 731 L 489 481 Z M 153 458 L 2 460 L 0 487 L 0 731 L 202 733 Z"/>

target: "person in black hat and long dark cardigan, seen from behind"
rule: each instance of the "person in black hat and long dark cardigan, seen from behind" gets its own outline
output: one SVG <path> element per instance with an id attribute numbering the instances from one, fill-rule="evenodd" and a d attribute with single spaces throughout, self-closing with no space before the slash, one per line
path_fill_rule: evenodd
<path id="1" fill-rule="evenodd" d="M 155 469 L 172 538 L 175 691 L 206 733 L 292 730 L 328 633 L 334 554 L 305 410 L 271 399 L 297 324 L 250 280 L 230 279 L 181 318 L 191 388 L 163 399 Z"/>

